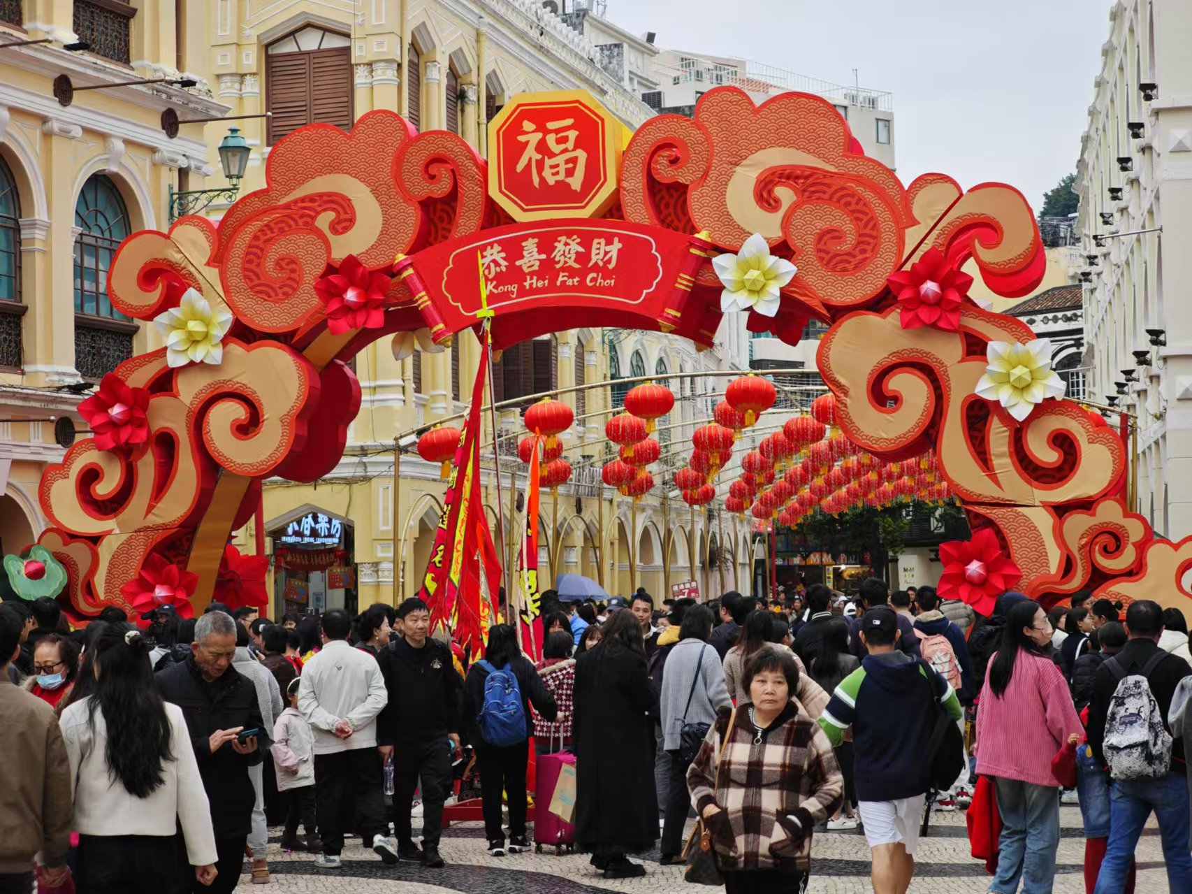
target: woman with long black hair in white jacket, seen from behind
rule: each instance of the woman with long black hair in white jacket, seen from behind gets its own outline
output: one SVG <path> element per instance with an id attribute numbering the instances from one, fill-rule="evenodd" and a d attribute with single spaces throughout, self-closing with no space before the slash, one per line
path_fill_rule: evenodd
<path id="1" fill-rule="evenodd" d="M 207 796 L 181 709 L 162 701 L 149 640 L 100 626 L 88 648 L 95 688 L 62 712 L 70 759 L 79 889 L 181 894 L 192 882 L 175 845 L 181 825 L 194 879 L 216 877 Z"/>

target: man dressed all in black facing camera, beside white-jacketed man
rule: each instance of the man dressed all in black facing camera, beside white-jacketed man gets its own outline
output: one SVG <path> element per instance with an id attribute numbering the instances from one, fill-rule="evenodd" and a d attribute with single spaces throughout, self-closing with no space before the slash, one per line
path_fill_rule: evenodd
<path id="1" fill-rule="evenodd" d="M 393 833 L 401 861 L 443 865 L 439 839 L 451 788 L 452 751 L 459 750 L 461 681 L 451 648 L 430 639 L 430 610 L 420 598 L 397 607 L 405 638 L 377 656 L 389 703 L 377 724 L 381 758 L 393 758 Z M 448 743 L 451 739 L 451 743 Z M 422 851 L 414 846 L 410 809 L 422 780 Z"/>

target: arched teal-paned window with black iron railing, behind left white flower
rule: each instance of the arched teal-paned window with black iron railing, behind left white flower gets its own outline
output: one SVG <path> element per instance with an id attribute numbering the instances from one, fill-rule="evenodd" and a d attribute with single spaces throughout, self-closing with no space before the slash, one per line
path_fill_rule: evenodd
<path id="1" fill-rule="evenodd" d="M 92 174 L 82 185 L 75 226 L 75 367 L 98 379 L 132 356 L 136 331 L 107 297 L 107 271 L 131 230 L 129 211 L 111 179 Z"/>

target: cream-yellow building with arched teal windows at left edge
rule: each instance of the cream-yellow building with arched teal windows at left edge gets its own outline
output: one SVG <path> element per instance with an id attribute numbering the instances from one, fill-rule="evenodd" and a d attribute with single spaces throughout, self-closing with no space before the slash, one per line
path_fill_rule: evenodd
<path id="1" fill-rule="evenodd" d="M 88 381 L 155 347 L 106 294 L 119 241 L 164 228 L 179 172 L 209 173 L 201 132 L 170 138 L 162 114 L 222 116 L 191 66 L 191 2 L 0 0 L 0 554 L 45 528 L 42 471 L 86 429 Z M 87 50 L 67 44 L 86 42 Z M 77 89 L 66 105 L 61 85 Z M 55 91 L 55 82 L 60 88 Z M 198 125 L 193 125 L 198 126 Z M 185 180 L 184 174 L 184 180 Z"/>

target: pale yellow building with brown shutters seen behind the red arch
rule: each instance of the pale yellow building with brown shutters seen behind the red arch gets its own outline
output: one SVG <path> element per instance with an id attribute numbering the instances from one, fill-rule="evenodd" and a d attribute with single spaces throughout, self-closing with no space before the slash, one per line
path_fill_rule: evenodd
<path id="1" fill-rule="evenodd" d="M 188 5 L 187 26 L 190 38 L 203 46 L 198 70 L 229 114 L 271 113 L 240 123 L 253 147 L 241 194 L 263 185 L 272 144 L 293 128 L 315 122 L 349 128 L 372 110 L 397 111 L 420 130 L 451 130 L 482 155 L 489 119 L 517 93 L 583 89 L 629 129 L 652 114 L 615 70 L 610 74 L 594 61 L 602 56 L 586 38 L 528 0 L 210 0 Z M 626 49 L 626 55 L 639 56 L 656 51 L 645 41 Z M 217 167 L 215 147 L 226 126 L 205 126 L 209 166 Z M 218 174 L 205 187 L 217 185 Z M 207 213 L 218 217 L 222 206 L 226 203 L 213 203 Z M 493 536 L 498 548 L 503 539 L 507 557 L 519 539 L 514 532 L 523 524 L 517 493 L 526 478 L 516 440 L 526 433 L 520 422 L 524 402 L 519 399 L 555 387 L 603 384 L 564 398 L 577 417 L 565 436 L 565 458 L 576 471 L 559 489 L 557 515 L 554 498 L 542 501 L 544 588 L 557 572 L 573 572 L 602 581 L 611 594 L 627 594 L 632 584 L 660 600 L 669 584 L 693 577 L 691 514 L 673 488 L 660 485 L 632 507 L 600 484 L 604 421 L 626 390 L 607 383 L 747 366 L 739 360 L 746 344 L 744 323 L 740 331 L 726 327 L 715 349 L 697 354 L 690 343 L 654 333 L 565 330 L 515 346 L 495 365 L 498 405 L 511 403 L 498 421 L 501 498 L 491 446 L 484 492 Z M 274 616 L 306 607 L 362 608 L 417 594 L 445 483 L 437 464 L 414 452 L 412 433 L 464 411 L 478 355 L 477 342 L 468 337 L 442 353 L 418 352 L 401 362 L 383 342 L 356 358 L 362 399 L 342 461 L 317 484 L 272 482 L 265 488 L 262 527 L 265 551 L 273 557 Z M 671 383 L 678 402 L 664 421 L 670 427 L 660 433 L 673 445 L 671 457 L 690 451 L 691 427 L 710 417 L 727 381 L 708 377 Z M 488 426 L 485 437 L 491 445 Z M 404 451 L 395 478 L 399 439 Z M 670 471 L 653 471 L 657 480 L 670 484 Z M 746 588 L 744 522 L 701 510 L 696 527 L 694 577 L 701 594 Z M 238 532 L 236 540 L 242 550 L 255 550 L 255 527 Z M 716 546 L 721 541 L 725 551 Z"/>

